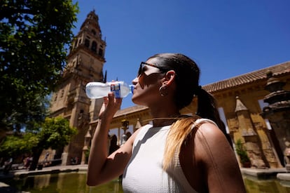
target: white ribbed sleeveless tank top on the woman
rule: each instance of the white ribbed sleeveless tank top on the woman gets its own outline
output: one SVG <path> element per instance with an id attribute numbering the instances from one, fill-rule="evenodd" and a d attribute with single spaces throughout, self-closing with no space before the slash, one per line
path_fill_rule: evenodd
<path id="1" fill-rule="evenodd" d="M 209 119 L 198 119 L 199 124 Z M 141 193 L 196 192 L 188 183 L 179 163 L 177 166 L 163 170 L 165 140 L 170 126 L 140 128 L 132 148 L 132 157 L 123 173 L 123 191 Z"/>

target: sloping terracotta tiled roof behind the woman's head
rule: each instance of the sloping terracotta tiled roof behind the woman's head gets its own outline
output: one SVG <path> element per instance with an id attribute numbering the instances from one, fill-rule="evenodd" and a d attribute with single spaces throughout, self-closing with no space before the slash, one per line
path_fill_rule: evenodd
<path id="1" fill-rule="evenodd" d="M 203 89 L 208 91 L 209 93 L 215 91 L 221 91 L 223 89 L 233 88 L 235 86 L 241 86 L 243 84 L 249 84 L 254 81 L 267 79 L 267 72 L 271 71 L 273 76 L 281 75 L 281 74 L 289 74 L 290 73 L 290 61 L 284 62 L 279 65 L 274 65 L 271 67 L 266 67 L 263 69 L 258 69 L 254 72 L 249 72 L 247 74 L 242 74 L 240 76 L 235 76 L 230 79 L 226 79 L 223 81 L 218 81 L 213 84 L 207 84 L 202 86 Z"/>

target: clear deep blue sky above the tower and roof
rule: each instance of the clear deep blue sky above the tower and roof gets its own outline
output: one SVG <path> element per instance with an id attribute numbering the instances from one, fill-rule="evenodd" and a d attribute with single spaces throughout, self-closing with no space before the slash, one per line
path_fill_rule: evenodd
<path id="1" fill-rule="evenodd" d="M 76 2 L 76 1 L 74 1 Z M 81 0 L 74 34 L 90 11 L 106 38 L 108 81 L 127 84 L 155 53 L 184 53 L 212 84 L 290 60 L 289 0 Z M 122 109 L 131 107 L 131 95 Z"/>

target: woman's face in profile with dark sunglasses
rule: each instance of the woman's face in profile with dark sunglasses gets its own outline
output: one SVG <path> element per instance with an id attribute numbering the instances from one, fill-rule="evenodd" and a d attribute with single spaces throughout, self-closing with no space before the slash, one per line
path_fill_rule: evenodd
<path id="1" fill-rule="evenodd" d="M 156 59 L 151 58 L 141 64 L 137 77 L 132 81 L 134 92 L 132 101 L 137 105 L 154 105 L 160 98 L 159 88 L 162 86 L 163 72 L 155 67 Z"/>

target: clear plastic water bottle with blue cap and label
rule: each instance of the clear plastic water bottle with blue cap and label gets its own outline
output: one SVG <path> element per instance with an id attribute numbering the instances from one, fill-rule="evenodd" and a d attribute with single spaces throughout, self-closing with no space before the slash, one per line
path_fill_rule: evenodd
<path id="1" fill-rule="evenodd" d="M 133 93 L 134 86 L 127 86 L 123 81 L 112 81 L 112 82 L 89 82 L 85 86 L 85 93 L 88 98 L 103 98 L 108 95 L 108 93 L 113 92 L 115 98 L 124 98 L 129 93 Z"/>

